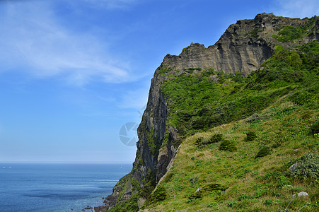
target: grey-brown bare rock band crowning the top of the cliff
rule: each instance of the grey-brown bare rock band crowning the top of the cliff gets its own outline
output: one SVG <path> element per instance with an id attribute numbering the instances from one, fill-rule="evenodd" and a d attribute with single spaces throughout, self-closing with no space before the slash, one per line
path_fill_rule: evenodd
<path id="1" fill-rule="evenodd" d="M 163 64 L 166 64 L 168 69 L 212 68 L 226 73 L 239 71 L 243 76 L 247 76 L 271 57 L 275 45 L 301 45 L 300 42 L 276 40 L 273 35 L 278 34 L 279 28 L 284 25 L 298 27 L 308 21 L 308 18 L 301 20 L 277 17 L 272 13 L 258 14 L 254 19 L 238 20 L 230 25 L 215 45 L 205 48 L 204 45 L 192 43 L 178 56 L 166 55 Z M 317 28 L 310 35 L 303 37 L 301 42 L 318 40 L 318 37 Z"/>

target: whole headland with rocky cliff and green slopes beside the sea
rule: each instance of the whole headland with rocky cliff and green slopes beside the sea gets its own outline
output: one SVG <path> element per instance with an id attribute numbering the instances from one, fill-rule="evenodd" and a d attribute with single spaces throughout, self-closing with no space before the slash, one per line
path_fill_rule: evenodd
<path id="1" fill-rule="evenodd" d="M 289 209 L 310 202 L 303 210 L 314 211 L 318 23 L 262 13 L 238 20 L 211 47 L 168 54 L 110 211 L 275 211 L 298 192 L 309 197 Z"/>

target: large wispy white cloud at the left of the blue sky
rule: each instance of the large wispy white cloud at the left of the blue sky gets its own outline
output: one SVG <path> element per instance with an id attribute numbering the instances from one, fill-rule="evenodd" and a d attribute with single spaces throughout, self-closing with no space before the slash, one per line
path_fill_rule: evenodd
<path id="1" fill-rule="evenodd" d="M 33 1 L 1 6 L 6 9 L 0 20 L 0 71 L 64 76 L 75 85 L 93 79 L 112 83 L 134 80 L 128 63 L 105 51 L 105 40 L 62 27 L 49 4 Z"/>

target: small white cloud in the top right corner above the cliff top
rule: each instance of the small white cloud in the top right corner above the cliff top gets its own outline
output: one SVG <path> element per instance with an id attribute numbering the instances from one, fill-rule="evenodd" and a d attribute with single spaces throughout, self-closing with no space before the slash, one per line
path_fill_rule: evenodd
<path id="1" fill-rule="evenodd" d="M 277 4 L 274 9 L 276 16 L 311 18 L 319 13 L 318 0 L 279 0 L 275 2 Z"/>

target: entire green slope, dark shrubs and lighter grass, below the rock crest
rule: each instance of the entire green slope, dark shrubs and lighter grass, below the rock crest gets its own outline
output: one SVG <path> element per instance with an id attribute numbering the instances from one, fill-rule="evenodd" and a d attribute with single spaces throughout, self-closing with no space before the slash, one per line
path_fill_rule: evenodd
<path id="1" fill-rule="evenodd" d="M 309 128 L 318 122 L 319 45 L 310 43 L 293 50 L 277 47 L 263 71 L 246 80 L 220 75 L 219 82 L 214 83 L 208 81 L 209 70 L 189 70 L 163 83 L 170 107 L 168 121 L 186 139 L 161 182 L 166 199 L 153 199 L 146 208 L 278 211 L 286 208 L 292 194 L 303 191 L 310 197 L 292 201 L 289 210 L 298 211 L 306 204 L 303 211 L 318 209 L 318 175 L 303 179 L 291 177 L 287 170 L 302 155 L 318 155 L 318 134 L 309 134 Z M 264 114 L 264 118 L 244 122 L 243 118 L 255 112 Z M 248 131 L 254 131 L 257 138 L 245 141 Z M 214 134 L 233 142 L 237 151 L 220 151 L 220 142 L 197 146 L 197 138 L 203 141 Z M 255 158 L 265 146 L 272 152 Z M 316 158 L 313 165 L 317 167 L 313 168 L 318 168 L 318 163 Z M 190 198 L 199 187 L 211 183 L 227 189 Z"/>

